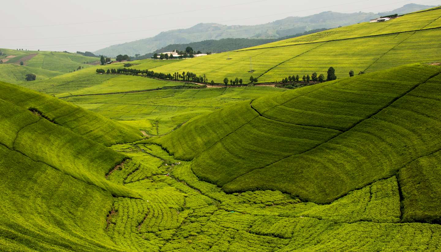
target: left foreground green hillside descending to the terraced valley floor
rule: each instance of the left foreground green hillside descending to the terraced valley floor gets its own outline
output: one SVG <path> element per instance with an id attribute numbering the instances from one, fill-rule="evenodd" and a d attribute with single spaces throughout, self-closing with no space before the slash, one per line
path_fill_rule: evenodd
<path id="1" fill-rule="evenodd" d="M 112 196 L 139 195 L 109 182 L 105 174 L 127 156 L 87 138 L 100 140 L 93 134 L 78 132 L 108 120 L 100 116 L 94 120 L 93 113 L 79 109 L 82 115 L 60 117 L 64 119 L 56 121 L 58 125 L 27 106 L 41 106 L 49 116 L 75 106 L 9 84 L 1 86 L 1 94 L 7 95 L 0 98 L 0 250 L 116 251 L 105 232 Z"/>

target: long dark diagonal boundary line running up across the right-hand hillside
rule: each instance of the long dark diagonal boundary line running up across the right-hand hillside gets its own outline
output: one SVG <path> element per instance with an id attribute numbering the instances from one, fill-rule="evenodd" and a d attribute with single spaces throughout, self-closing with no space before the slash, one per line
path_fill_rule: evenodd
<path id="1" fill-rule="evenodd" d="M 408 89 L 408 90 L 407 90 L 406 92 L 404 92 L 403 94 L 401 94 L 401 95 L 399 95 L 399 96 L 396 96 L 394 99 L 392 99 L 392 100 L 391 100 L 388 104 L 386 104 L 385 106 L 383 106 L 383 107 L 379 108 L 377 111 L 371 113 L 371 114 L 368 115 L 366 118 L 361 119 L 361 120 L 359 120 L 358 122 L 355 122 L 355 123 L 354 123 L 351 127 L 349 127 L 347 130 L 344 130 L 344 131 L 342 131 L 341 133 L 337 133 L 335 136 L 330 137 L 327 141 L 325 141 L 325 142 L 323 142 L 323 143 L 320 143 L 320 144 L 314 146 L 313 148 L 310 148 L 309 150 L 306 150 L 306 151 L 304 151 L 304 152 L 302 152 L 302 153 L 295 154 L 295 155 L 285 156 L 285 157 L 283 157 L 283 158 L 281 158 L 281 159 L 279 159 L 279 160 L 276 160 L 276 161 L 274 161 L 274 162 L 271 162 L 271 163 L 269 163 L 269 164 L 267 164 L 267 165 L 265 165 L 265 166 L 263 166 L 263 167 L 258 167 L 258 168 L 255 168 L 255 169 L 253 169 L 253 170 L 250 170 L 250 171 L 248 171 L 247 173 L 245 173 L 245 174 L 243 174 L 243 175 L 241 175 L 241 176 L 239 176 L 239 177 L 237 177 L 237 178 L 234 178 L 231 182 L 235 181 L 236 179 L 238 179 L 238 178 L 240 178 L 240 177 L 243 177 L 243 176 L 249 174 L 250 172 L 252 172 L 252 171 L 254 171 L 254 170 L 262 170 L 262 169 L 264 169 L 264 168 L 266 168 L 266 167 L 269 167 L 270 165 L 273 165 L 274 163 L 278 163 L 278 162 L 282 161 L 283 159 L 287 159 L 287 158 L 292 157 L 292 156 L 303 155 L 303 154 L 305 154 L 306 152 L 313 151 L 314 149 L 320 147 L 321 145 L 325 145 L 325 144 L 329 143 L 329 141 L 333 140 L 334 138 L 340 136 L 341 134 L 343 134 L 343 133 L 345 133 L 345 132 L 348 132 L 349 130 L 353 129 L 355 126 L 359 125 L 361 122 L 364 122 L 365 120 L 372 118 L 374 115 L 377 115 L 378 113 L 380 113 L 381 111 L 383 111 L 385 108 L 391 106 L 391 105 L 392 105 L 393 103 L 395 103 L 397 100 L 400 100 L 400 98 L 406 96 L 408 93 L 412 92 L 412 91 L 415 90 L 417 87 L 419 87 L 420 85 L 422 85 L 422 84 L 428 82 L 430 79 L 432 79 L 432 78 L 438 76 L 439 74 L 441 74 L 441 71 L 438 71 L 436 74 L 431 75 L 431 76 L 430 76 L 429 78 L 427 78 L 425 81 L 413 85 L 410 89 Z M 231 183 L 231 182 L 228 182 L 228 183 Z M 228 184 L 228 183 L 227 183 L 227 184 Z"/>

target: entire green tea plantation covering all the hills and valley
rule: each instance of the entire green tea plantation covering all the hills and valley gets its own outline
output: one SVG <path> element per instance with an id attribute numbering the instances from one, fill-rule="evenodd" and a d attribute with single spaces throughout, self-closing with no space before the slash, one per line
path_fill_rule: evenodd
<path id="1" fill-rule="evenodd" d="M 440 20 L 130 62 L 216 82 L 336 68 L 295 89 L 1 49 L 0 251 L 441 251 Z"/>

